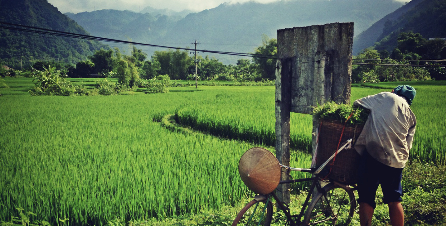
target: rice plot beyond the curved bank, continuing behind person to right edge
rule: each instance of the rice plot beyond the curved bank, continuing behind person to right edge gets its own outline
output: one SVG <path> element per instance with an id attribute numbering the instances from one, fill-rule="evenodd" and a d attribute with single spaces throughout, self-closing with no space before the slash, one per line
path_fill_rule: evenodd
<path id="1" fill-rule="evenodd" d="M 351 103 L 367 95 L 391 91 L 401 84 L 417 90 L 411 106 L 417 116 L 417 131 L 410 158 L 446 164 L 446 82 L 383 82 L 354 86 Z M 216 136 L 274 146 L 274 111 L 274 86 L 268 86 L 218 93 L 197 105 L 178 109 L 177 115 L 180 123 Z M 292 113 L 290 121 L 291 148 L 310 150 L 311 116 Z"/>

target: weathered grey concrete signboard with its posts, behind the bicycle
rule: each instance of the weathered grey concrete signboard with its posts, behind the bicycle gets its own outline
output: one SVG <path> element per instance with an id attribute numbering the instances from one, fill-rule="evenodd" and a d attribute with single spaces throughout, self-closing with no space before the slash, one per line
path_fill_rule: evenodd
<path id="1" fill-rule="evenodd" d="M 331 100 L 350 103 L 352 46 L 353 23 L 277 30 L 276 156 L 281 164 L 289 165 L 290 112 L 312 114 L 312 106 Z M 282 180 L 287 177 L 282 174 Z M 279 185 L 278 191 L 289 202 L 289 185 Z"/>

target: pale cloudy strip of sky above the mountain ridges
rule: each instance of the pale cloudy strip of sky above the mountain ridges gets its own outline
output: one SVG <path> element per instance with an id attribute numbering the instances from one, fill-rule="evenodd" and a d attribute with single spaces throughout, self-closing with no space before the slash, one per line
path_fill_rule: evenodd
<path id="1" fill-rule="evenodd" d="M 192 11 L 202 11 L 204 9 L 215 8 L 219 4 L 225 2 L 248 2 L 250 0 L 48 0 L 59 9 L 60 12 L 91 12 L 100 9 L 129 9 L 135 12 L 139 12 L 140 9 L 144 9 L 147 6 L 165 9 L 169 8 L 174 11 L 182 11 L 189 9 Z M 270 3 L 277 0 L 255 0 L 260 3 Z M 409 0 L 397 0 L 401 2 L 407 2 Z"/>

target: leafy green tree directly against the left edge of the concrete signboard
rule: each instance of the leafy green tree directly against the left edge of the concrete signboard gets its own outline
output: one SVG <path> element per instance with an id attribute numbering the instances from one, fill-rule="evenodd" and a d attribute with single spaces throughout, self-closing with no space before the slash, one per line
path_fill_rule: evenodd
<path id="1" fill-rule="evenodd" d="M 255 49 L 256 54 L 277 55 L 277 39 L 263 35 L 262 45 Z M 254 58 L 257 71 L 262 78 L 274 80 L 276 79 L 276 58 Z"/>

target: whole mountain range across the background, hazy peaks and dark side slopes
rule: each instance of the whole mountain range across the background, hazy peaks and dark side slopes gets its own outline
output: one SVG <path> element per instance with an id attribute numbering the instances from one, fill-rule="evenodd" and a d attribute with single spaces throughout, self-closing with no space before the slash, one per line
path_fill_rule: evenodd
<path id="1" fill-rule="evenodd" d="M 201 12 L 147 7 L 140 12 L 107 9 L 65 15 L 46 0 L 0 2 L 2 23 L 182 48 L 194 47 L 192 43 L 197 40 L 197 49 L 237 53 L 254 52 L 265 36 L 276 38 L 277 29 L 333 22 L 355 22 L 354 54 L 375 43 L 381 43 L 376 48 L 391 50 L 401 31 L 419 32 L 427 38 L 446 37 L 445 0 L 412 0 L 406 4 L 395 0 L 281 0 L 269 4 L 250 1 L 224 3 Z M 100 48 L 116 46 L 129 52 L 129 46 L 123 44 L 48 37 L 4 28 L 0 44 L 2 63 L 16 69 L 21 57 L 31 63 L 58 59 L 75 64 Z M 149 57 L 154 51 L 166 50 L 137 48 Z M 224 64 L 234 64 L 242 58 L 199 54 L 215 57 Z"/>

